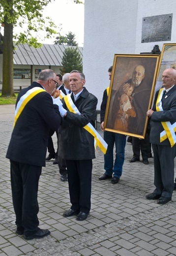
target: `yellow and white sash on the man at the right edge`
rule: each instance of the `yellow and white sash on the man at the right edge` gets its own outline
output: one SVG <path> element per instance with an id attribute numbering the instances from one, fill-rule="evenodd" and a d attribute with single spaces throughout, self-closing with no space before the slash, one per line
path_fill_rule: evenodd
<path id="1" fill-rule="evenodd" d="M 163 111 L 161 99 L 164 90 L 164 88 L 161 88 L 159 90 L 158 97 L 156 100 L 156 111 Z M 164 130 L 160 133 L 160 142 L 168 138 L 172 148 L 176 144 L 176 122 L 173 125 L 171 125 L 171 122 L 161 122 L 161 124 Z"/>

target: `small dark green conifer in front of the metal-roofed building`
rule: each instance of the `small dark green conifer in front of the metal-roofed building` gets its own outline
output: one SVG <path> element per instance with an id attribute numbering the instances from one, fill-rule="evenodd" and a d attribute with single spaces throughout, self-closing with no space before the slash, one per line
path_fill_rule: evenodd
<path id="1" fill-rule="evenodd" d="M 79 53 L 77 47 L 66 48 L 63 52 L 62 62 L 63 68 L 61 69 L 61 74 L 69 73 L 71 70 L 76 69 L 83 71 L 82 57 Z"/>

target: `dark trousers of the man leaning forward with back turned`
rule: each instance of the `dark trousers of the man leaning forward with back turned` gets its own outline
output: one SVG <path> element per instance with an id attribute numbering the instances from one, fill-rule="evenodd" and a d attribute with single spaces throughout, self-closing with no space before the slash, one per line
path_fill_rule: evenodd
<path id="1" fill-rule="evenodd" d="M 38 221 L 38 182 L 41 166 L 29 165 L 10 160 L 11 188 L 17 228 L 25 235 L 37 232 Z"/>

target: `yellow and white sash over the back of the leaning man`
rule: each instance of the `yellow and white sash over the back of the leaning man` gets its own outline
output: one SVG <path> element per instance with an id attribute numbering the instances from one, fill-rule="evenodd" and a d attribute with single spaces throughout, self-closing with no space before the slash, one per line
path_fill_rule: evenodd
<path id="1" fill-rule="evenodd" d="M 15 126 L 20 114 L 22 113 L 23 109 L 25 108 L 25 106 L 27 105 L 29 100 L 31 98 L 33 98 L 35 95 L 37 95 L 38 93 L 42 93 L 42 92 L 46 92 L 46 91 L 40 87 L 34 87 L 34 88 L 30 89 L 26 94 L 21 96 L 21 98 L 18 101 L 17 106 L 16 106 L 13 127 Z"/>

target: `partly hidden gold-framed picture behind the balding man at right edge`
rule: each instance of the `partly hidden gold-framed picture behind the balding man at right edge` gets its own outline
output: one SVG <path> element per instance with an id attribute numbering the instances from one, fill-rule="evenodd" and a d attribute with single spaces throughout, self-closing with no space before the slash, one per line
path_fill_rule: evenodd
<path id="1" fill-rule="evenodd" d="M 154 96 L 156 91 L 158 91 L 162 87 L 162 74 L 166 68 L 176 69 L 176 43 L 163 44 L 161 57 L 159 60 L 159 68 L 157 72 Z"/>

